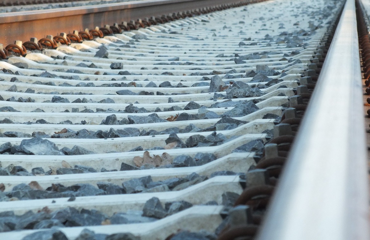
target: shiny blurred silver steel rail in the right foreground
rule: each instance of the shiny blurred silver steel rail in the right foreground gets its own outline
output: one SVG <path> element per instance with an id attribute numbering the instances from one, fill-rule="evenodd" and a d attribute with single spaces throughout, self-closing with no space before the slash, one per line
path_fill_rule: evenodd
<path id="1" fill-rule="evenodd" d="M 257 239 L 369 239 L 354 0 L 347 0 Z"/>

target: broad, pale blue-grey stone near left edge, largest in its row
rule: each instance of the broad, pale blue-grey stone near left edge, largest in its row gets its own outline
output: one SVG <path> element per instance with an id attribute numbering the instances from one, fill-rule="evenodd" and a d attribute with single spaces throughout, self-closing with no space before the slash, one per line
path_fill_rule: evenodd
<path id="1" fill-rule="evenodd" d="M 39 137 L 22 140 L 20 148 L 22 151 L 34 155 L 63 155 L 53 142 Z"/>

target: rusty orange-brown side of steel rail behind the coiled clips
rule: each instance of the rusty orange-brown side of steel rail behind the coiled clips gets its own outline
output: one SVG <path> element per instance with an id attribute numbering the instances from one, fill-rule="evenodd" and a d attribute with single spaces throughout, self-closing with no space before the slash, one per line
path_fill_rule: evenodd
<path id="1" fill-rule="evenodd" d="M 60 32 L 68 33 L 81 30 L 82 27 L 93 29 L 95 26 L 102 27 L 104 24 L 240 2 L 240 0 L 142 0 L 4 13 L 0 14 L 0 43 L 8 45 L 13 44 L 14 40 L 43 38 L 46 33 L 59 35 Z M 259 0 L 244 1 L 244 3 L 249 2 L 254 3 Z"/>

